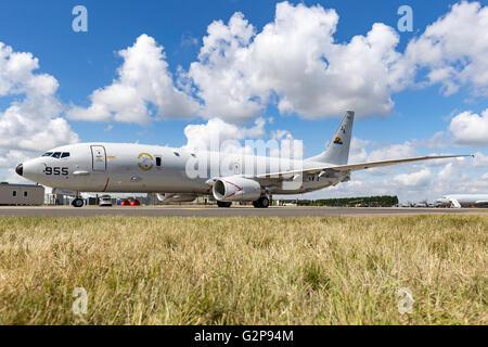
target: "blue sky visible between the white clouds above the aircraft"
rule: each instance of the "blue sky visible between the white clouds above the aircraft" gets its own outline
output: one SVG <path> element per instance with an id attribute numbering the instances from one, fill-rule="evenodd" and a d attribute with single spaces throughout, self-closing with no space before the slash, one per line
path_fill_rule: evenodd
<path id="1" fill-rule="evenodd" d="M 67 117 L 66 112 L 75 105 L 88 108 L 93 91 L 112 85 L 118 78 L 117 69 L 124 64 L 124 59 L 117 52 L 133 46 L 141 35 L 145 34 L 154 38 L 156 44 L 164 47 L 168 73 L 176 80 L 179 66 L 188 72 L 190 64 L 198 61 L 203 38 L 214 21 L 220 20 L 227 25 L 235 12 L 241 12 L 258 35 L 265 25 L 274 22 L 277 3 L 279 1 L 262 0 L 42 2 L 8 0 L 0 3 L 0 42 L 12 47 L 15 52 L 30 52 L 39 62 L 39 69 L 34 73 L 48 74 L 55 78 L 59 83 L 55 98 L 64 105 L 59 114 L 63 119 L 66 118 L 79 141 L 140 141 L 181 146 L 188 141 L 184 129 L 189 125 L 206 124 L 211 118 L 208 114 L 211 110 L 207 111 L 206 116 L 196 115 L 193 118 L 176 116 L 165 120 L 153 119 L 143 125 L 114 119 L 110 121 L 80 120 L 79 117 L 76 119 Z M 374 23 L 383 23 L 396 30 L 399 42 L 394 50 L 403 54 L 409 42 L 421 38 L 427 25 L 450 13 L 452 4 L 457 2 L 440 0 L 290 1 L 293 9 L 298 3 L 304 4 L 305 8 L 319 5 L 323 9 L 335 10 L 338 22 L 332 34 L 334 43 L 348 44 L 352 37 L 368 35 Z M 72 9 L 77 4 L 88 9 L 88 33 L 72 30 L 72 21 L 75 17 L 72 15 Z M 413 10 L 413 33 L 397 30 L 397 22 L 400 18 L 397 10 L 403 4 L 410 5 Z M 486 4 L 486 1 L 481 1 L 480 8 L 483 9 Z M 441 38 L 446 37 L 444 35 Z M 358 56 L 358 60 L 361 57 Z M 453 66 L 459 64 L 457 57 L 449 63 Z M 425 80 L 425 76 L 434 69 L 434 65 L 420 66 L 414 79 Z M 398 91 L 390 92 L 389 97 L 394 105 L 387 112 L 375 113 L 373 110 L 368 115 L 363 115 L 361 110 L 356 110 L 358 120 L 354 136 L 369 141 L 365 146 L 371 154 L 375 150 L 396 144 L 403 145 L 413 139 L 427 141 L 436 132 L 442 131 L 442 139 L 445 139 L 442 146 L 415 145 L 414 151 L 422 155 L 440 152 L 486 155 L 487 142 L 472 141 L 468 145 L 460 145 L 448 130 L 452 119 L 459 114 L 471 112 L 479 116 L 488 107 L 487 94 L 484 94 L 486 86 L 481 83 L 479 87 L 478 82 L 476 89 L 473 88 L 473 83 L 464 79 L 459 83 L 459 89 L 449 95 L 442 93 L 440 82 L 423 86 L 410 83 L 402 87 Z M 481 89 L 481 92 L 478 89 Z M 0 94 L 0 112 L 4 112 L 13 101 L 22 100 L 23 97 L 25 95 L 22 93 Z M 191 97 L 197 99 L 201 104 L 206 102 L 202 98 L 198 99 L 195 91 Z M 157 107 L 151 102 L 147 106 L 157 113 Z M 287 130 L 294 139 L 304 141 L 305 156 L 323 150 L 344 114 L 344 112 L 337 112 L 310 119 L 296 108 L 290 114 L 280 114 L 273 102 L 266 102 L 261 106 L 259 113 L 245 118 L 245 121 L 220 118 L 237 127 L 253 127 L 258 117 L 272 118 L 272 123 L 266 124 L 264 137 L 269 137 L 273 130 Z M 111 127 L 107 128 L 107 126 Z M 7 157 L 9 149 L 3 150 Z M 33 147 L 24 150 L 33 152 Z M 39 151 L 41 150 L 43 150 L 42 146 L 39 147 Z M 474 175 L 478 178 L 486 172 L 484 166 L 478 166 L 476 170 Z"/>

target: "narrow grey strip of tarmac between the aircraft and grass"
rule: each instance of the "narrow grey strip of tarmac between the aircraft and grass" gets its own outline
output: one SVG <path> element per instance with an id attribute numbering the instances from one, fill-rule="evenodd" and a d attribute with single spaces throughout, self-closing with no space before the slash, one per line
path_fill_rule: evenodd
<path id="1" fill-rule="evenodd" d="M 231 207 L 206 206 L 151 206 L 151 207 L 98 207 L 85 206 L 0 206 L 0 217 L 93 217 L 93 216 L 146 216 L 146 217 L 322 217 L 322 216 L 410 216 L 410 215 L 485 215 L 481 208 L 376 208 L 376 207 Z"/>

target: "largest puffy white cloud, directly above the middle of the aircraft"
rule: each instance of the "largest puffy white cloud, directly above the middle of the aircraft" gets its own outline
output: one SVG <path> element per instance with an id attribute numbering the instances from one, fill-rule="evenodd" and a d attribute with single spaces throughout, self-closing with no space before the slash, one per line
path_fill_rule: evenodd
<path id="1" fill-rule="evenodd" d="M 245 121 L 275 102 L 282 114 L 307 118 L 391 111 L 390 86 L 398 83 L 396 31 L 375 24 L 367 36 L 334 43 L 334 10 L 277 4 L 274 22 L 262 31 L 235 13 L 229 24 L 208 27 L 198 62 L 189 77 L 204 101 L 204 114 Z M 400 74 L 401 75 L 401 74 Z"/>

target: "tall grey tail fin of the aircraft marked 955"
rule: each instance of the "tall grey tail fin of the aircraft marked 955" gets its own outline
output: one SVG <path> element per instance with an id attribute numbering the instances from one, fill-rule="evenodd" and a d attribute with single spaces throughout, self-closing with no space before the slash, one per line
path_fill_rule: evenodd
<path id="1" fill-rule="evenodd" d="M 354 120 L 355 112 L 347 111 L 346 116 L 344 117 L 341 126 L 329 143 L 325 152 L 308 158 L 307 160 L 346 165 L 349 160 L 349 149 Z"/>

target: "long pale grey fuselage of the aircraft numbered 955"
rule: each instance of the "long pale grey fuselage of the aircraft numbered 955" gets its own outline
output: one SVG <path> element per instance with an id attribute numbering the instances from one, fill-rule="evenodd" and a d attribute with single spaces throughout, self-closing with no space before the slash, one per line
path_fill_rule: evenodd
<path id="1" fill-rule="evenodd" d="M 323 163 L 131 143 L 80 143 L 50 150 L 47 156 L 24 163 L 22 176 L 42 185 L 77 192 L 210 194 L 208 180 L 213 177 L 253 177 L 319 165 Z M 344 176 L 309 175 L 299 179 L 303 183 L 295 189 L 277 183 L 272 193 L 310 192 L 336 184 Z"/>

